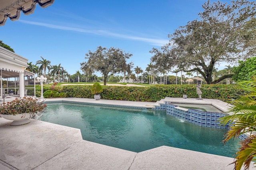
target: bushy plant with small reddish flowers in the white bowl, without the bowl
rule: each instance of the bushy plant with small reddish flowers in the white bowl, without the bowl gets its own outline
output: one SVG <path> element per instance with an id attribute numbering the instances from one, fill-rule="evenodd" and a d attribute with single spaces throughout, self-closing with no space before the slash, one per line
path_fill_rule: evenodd
<path id="1" fill-rule="evenodd" d="M 45 107 L 46 104 L 37 98 L 16 98 L 11 102 L 0 104 L 0 114 L 16 115 L 20 113 L 29 113 L 30 117 L 34 118 L 36 115 L 40 115 Z"/>

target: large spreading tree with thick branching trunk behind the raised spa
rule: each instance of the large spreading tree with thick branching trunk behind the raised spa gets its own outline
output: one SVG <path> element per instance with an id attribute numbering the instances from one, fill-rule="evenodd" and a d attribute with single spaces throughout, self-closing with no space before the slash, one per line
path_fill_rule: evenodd
<path id="1" fill-rule="evenodd" d="M 179 70 L 197 70 L 207 84 L 217 83 L 233 74 L 212 82 L 214 66 L 252 57 L 255 46 L 255 2 L 248 0 L 220 1 L 202 5 L 200 20 L 189 21 L 168 35 L 170 59 Z"/>

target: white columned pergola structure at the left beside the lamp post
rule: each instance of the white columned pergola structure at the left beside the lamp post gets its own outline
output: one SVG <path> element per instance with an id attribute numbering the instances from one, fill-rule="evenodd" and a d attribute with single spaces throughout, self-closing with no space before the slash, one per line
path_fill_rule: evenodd
<path id="1" fill-rule="evenodd" d="M 0 98 L 4 98 L 3 92 L 8 92 L 8 89 L 19 89 L 20 97 L 24 97 L 25 76 L 34 77 L 34 96 L 35 92 L 35 74 L 26 71 L 28 67 L 28 59 L 13 53 L 3 47 L 0 47 Z M 2 79 L 7 79 L 7 84 L 3 85 Z M 15 78 L 14 85 L 8 85 L 8 78 Z M 16 79 L 17 78 L 17 79 Z"/>

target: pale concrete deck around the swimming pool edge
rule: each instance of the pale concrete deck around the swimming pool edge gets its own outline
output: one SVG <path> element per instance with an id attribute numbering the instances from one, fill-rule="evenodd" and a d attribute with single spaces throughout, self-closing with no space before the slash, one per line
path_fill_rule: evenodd
<path id="1" fill-rule="evenodd" d="M 154 102 L 46 99 L 151 108 Z M 182 100 L 182 99 L 180 99 Z M 189 99 L 194 100 L 195 99 Z M 206 102 L 203 100 L 202 102 Z M 0 170 L 232 170 L 234 158 L 173 147 L 144 152 L 108 147 L 82 139 L 80 129 L 33 120 L 20 126 L 0 118 Z M 250 169 L 253 165 L 251 164 Z"/>

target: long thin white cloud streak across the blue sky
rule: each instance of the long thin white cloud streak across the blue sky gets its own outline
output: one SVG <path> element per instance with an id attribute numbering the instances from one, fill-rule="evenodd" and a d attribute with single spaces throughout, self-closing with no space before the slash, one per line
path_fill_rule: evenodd
<path id="1" fill-rule="evenodd" d="M 49 24 L 49 23 L 40 23 L 40 22 L 25 21 L 25 20 L 19 20 L 19 21 L 22 23 L 28 23 L 31 25 L 40 25 L 43 27 L 49 27 L 49 28 L 54 28 L 54 29 L 76 31 L 76 32 L 82 32 L 82 33 L 93 33 L 96 35 L 111 36 L 111 37 L 117 37 L 117 38 L 122 38 L 122 39 L 130 39 L 130 40 L 134 40 L 134 41 L 143 41 L 143 42 L 148 42 L 152 45 L 158 45 L 158 46 L 165 45 L 169 42 L 169 40 L 167 40 L 167 39 L 144 38 L 144 37 L 137 37 L 137 36 L 131 36 L 131 35 L 118 34 L 118 33 L 111 33 L 111 32 L 104 31 L 104 30 L 81 29 L 81 28 L 66 27 L 66 26 L 54 25 L 54 24 Z"/>

